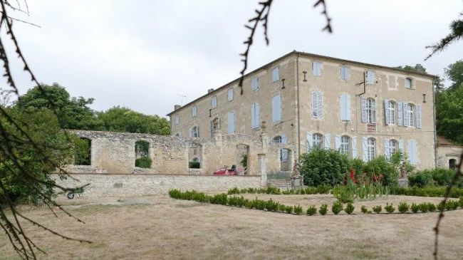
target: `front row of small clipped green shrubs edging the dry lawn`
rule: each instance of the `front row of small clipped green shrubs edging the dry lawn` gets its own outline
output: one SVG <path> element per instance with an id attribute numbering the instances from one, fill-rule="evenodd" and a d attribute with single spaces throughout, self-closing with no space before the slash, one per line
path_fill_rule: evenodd
<path id="1" fill-rule="evenodd" d="M 170 197 L 174 199 L 186 199 L 186 200 L 194 200 L 197 202 L 203 203 L 212 203 L 212 204 L 221 204 L 221 205 L 228 205 L 232 207 L 246 207 L 248 209 L 259 209 L 259 210 L 266 210 L 268 212 L 283 212 L 288 214 L 303 214 L 303 208 L 300 205 L 297 206 L 287 206 L 285 204 L 281 204 L 280 202 L 275 202 L 272 199 L 269 200 L 262 200 L 262 199 L 245 199 L 243 196 L 241 197 L 228 197 L 227 194 L 221 193 L 216 194 L 214 196 L 209 196 L 204 194 L 204 192 L 196 192 L 196 191 L 187 191 L 181 192 L 178 189 L 171 189 L 169 191 Z M 407 212 L 417 213 L 417 212 L 435 212 L 436 210 L 444 211 L 444 210 L 455 210 L 459 208 L 463 208 L 463 197 L 457 200 L 448 201 L 446 204 L 442 202 L 435 205 L 430 202 L 424 202 L 422 204 L 411 204 L 410 206 L 406 202 L 400 202 L 399 206 L 397 207 L 399 213 L 405 214 Z M 352 214 L 355 207 L 352 203 L 348 203 L 345 207 L 342 202 L 335 201 L 331 206 L 331 212 L 333 214 L 339 214 L 340 212 L 344 211 L 347 214 Z M 392 204 L 387 203 L 384 207 L 385 211 L 390 214 L 395 212 L 395 207 Z M 383 211 L 383 207 L 381 205 L 372 207 L 372 209 L 368 209 L 365 206 L 361 207 L 361 212 L 363 214 L 380 214 Z M 317 209 L 315 206 L 308 207 L 305 212 L 307 215 L 314 215 L 317 213 Z M 325 215 L 328 213 L 328 204 L 322 204 L 321 207 L 318 209 L 318 213 L 321 215 Z"/>

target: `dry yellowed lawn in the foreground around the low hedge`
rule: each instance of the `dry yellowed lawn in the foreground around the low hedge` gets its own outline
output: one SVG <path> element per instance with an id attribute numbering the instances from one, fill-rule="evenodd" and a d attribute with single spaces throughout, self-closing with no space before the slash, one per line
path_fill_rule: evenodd
<path id="1" fill-rule="evenodd" d="M 245 197 L 254 198 L 255 194 Z M 258 195 L 285 204 L 319 205 L 331 195 Z M 358 202 L 439 202 L 439 198 L 390 196 Z M 81 224 L 46 208 L 22 207 L 26 216 L 93 244 L 65 241 L 26 224 L 47 251 L 39 259 L 432 259 L 437 213 L 296 216 L 201 204 L 167 196 L 63 200 Z M 462 259 L 463 210 L 446 212 L 439 259 Z M 0 259 L 19 259 L 0 233 Z"/>

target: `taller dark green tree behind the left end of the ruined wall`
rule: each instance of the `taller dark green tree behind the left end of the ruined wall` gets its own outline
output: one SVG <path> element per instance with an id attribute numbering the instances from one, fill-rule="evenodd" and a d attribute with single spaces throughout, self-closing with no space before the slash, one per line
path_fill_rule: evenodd
<path id="1" fill-rule="evenodd" d="M 52 110 L 52 104 L 58 107 L 58 116 L 65 129 L 98 130 L 100 122 L 95 112 L 88 106 L 93 98 L 71 98 L 66 88 L 58 83 L 31 88 L 19 97 L 17 105 L 26 110 Z"/>

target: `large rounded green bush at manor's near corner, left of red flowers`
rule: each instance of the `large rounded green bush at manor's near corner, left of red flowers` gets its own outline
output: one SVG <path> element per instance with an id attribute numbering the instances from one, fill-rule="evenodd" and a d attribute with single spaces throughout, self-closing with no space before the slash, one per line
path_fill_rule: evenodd
<path id="1" fill-rule="evenodd" d="M 340 184 L 349 170 L 349 160 L 335 150 L 315 149 L 300 157 L 299 171 L 308 186 Z"/>

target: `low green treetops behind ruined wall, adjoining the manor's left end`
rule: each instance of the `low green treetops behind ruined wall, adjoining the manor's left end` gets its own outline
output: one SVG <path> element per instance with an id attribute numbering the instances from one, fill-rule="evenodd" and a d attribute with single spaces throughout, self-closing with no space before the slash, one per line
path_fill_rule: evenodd
<path id="1" fill-rule="evenodd" d="M 157 115 L 144 115 L 119 106 L 98 113 L 102 129 L 113 132 L 141 132 L 154 135 L 169 135 L 170 123 Z"/>

